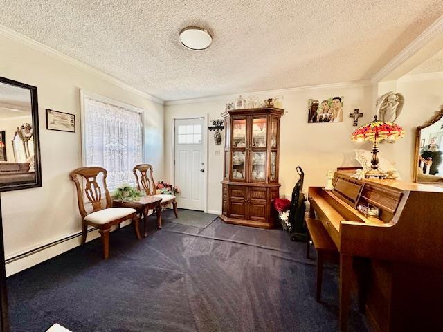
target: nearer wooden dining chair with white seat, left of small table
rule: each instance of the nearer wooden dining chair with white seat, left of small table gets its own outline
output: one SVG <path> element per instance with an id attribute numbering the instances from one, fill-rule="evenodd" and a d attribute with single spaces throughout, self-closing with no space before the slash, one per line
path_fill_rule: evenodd
<path id="1" fill-rule="evenodd" d="M 96 181 L 97 176 L 100 174 L 103 176 L 103 190 L 106 199 L 105 208 L 102 207 L 102 188 Z M 102 167 L 81 167 L 74 169 L 69 176 L 71 176 L 77 189 L 78 210 L 80 210 L 80 215 L 82 216 L 82 244 L 86 242 L 88 225 L 98 228 L 102 238 L 103 257 L 107 259 L 109 257 L 109 232 L 111 231 L 111 226 L 118 225 L 127 219 L 132 219 L 136 237 L 141 239 L 140 230 L 138 230 L 139 218 L 136 215 L 137 211 L 132 208 L 111 208 L 111 195 L 109 195 L 106 185 L 106 169 Z M 80 176 L 81 181 L 86 181 L 84 193 L 78 176 Z M 84 206 L 84 196 L 87 197 L 93 208 L 89 213 Z"/>

